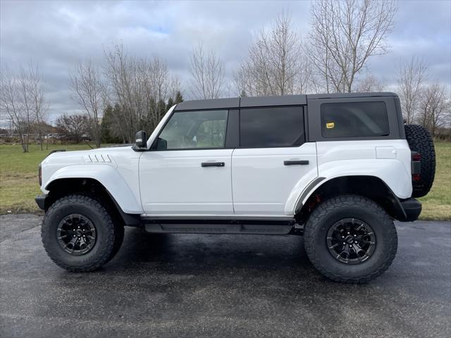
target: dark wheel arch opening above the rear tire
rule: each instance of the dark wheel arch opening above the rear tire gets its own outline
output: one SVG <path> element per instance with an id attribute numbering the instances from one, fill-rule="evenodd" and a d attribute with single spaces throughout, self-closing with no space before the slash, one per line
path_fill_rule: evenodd
<path id="1" fill-rule="evenodd" d="M 356 194 L 369 198 L 397 220 L 407 217 L 400 199 L 388 187 L 388 184 L 377 176 L 348 175 L 333 177 L 329 180 L 325 177 L 317 177 L 307 189 L 299 196 L 295 207 L 295 217 L 302 223 L 321 201 L 342 194 Z"/>

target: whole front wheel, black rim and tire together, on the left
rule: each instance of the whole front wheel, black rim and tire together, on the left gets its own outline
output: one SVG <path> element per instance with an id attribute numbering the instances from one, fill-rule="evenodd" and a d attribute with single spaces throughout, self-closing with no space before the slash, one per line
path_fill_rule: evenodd
<path id="1" fill-rule="evenodd" d="M 41 237 L 44 249 L 57 265 L 87 272 L 113 258 L 123 232 L 99 201 L 74 194 L 50 206 L 42 222 Z"/>

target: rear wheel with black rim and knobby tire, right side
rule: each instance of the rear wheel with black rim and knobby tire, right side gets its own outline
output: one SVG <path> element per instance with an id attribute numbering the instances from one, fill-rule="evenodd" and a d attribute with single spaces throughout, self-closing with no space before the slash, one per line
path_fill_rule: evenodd
<path id="1" fill-rule="evenodd" d="M 362 196 L 323 201 L 307 220 L 304 235 L 311 263 L 337 282 L 372 280 L 388 269 L 397 250 L 393 220 Z"/>

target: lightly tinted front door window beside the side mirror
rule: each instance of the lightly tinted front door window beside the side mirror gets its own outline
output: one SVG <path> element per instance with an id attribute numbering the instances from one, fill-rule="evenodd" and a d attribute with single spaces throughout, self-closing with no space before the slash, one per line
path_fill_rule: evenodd
<path id="1" fill-rule="evenodd" d="M 221 148 L 226 142 L 228 111 L 173 113 L 159 135 L 167 149 Z"/>

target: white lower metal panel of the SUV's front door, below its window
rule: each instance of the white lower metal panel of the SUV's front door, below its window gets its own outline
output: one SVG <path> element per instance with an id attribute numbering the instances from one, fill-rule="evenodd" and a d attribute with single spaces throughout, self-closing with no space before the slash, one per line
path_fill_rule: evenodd
<path id="1" fill-rule="evenodd" d="M 144 213 L 233 215 L 232 149 L 145 151 L 140 158 Z M 223 167 L 202 167 L 223 162 Z"/>

